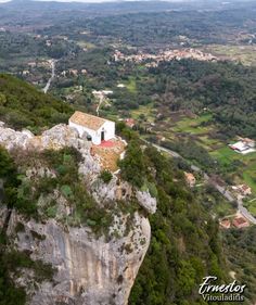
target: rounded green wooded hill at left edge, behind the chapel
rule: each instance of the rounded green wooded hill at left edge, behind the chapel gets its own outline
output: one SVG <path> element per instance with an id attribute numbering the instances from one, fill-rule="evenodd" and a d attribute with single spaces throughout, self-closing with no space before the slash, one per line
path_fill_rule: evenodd
<path id="1" fill-rule="evenodd" d="M 66 122 L 72 107 L 51 96 L 38 91 L 31 85 L 7 74 L 0 74 L 0 120 L 21 129 L 37 132 Z"/>

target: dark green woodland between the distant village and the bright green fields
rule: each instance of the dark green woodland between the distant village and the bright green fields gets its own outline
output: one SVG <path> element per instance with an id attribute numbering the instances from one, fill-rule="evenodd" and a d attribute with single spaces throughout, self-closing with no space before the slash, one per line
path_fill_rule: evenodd
<path id="1" fill-rule="evenodd" d="M 172 111 L 183 109 L 194 113 L 207 107 L 213 114 L 212 122 L 227 138 L 234 135 L 256 137 L 255 68 L 228 62 L 181 60 L 162 63 L 151 73 L 162 86 L 158 93 L 167 97 L 162 100 L 161 107 L 168 103 Z"/>

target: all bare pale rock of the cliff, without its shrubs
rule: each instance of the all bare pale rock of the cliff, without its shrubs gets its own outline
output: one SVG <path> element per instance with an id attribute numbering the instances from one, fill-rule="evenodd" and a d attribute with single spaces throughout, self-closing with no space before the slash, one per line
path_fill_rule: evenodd
<path id="1" fill-rule="evenodd" d="M 8 150 L 39 151 L 74 147 L 84 157 L 79 164 L 81 179 L 102 208 L 104 202 L 128 200 L 132 195 L 130 186 L 117 181 L 116 177 L 107 186 L 99 180 L 100 165 L 90 155 L 90 143 L 80 140 L 77 132 L 66 125 L 57 125 L 36 137 L 29 131 L 15 131 L 1 124 L 0 144 Z M 35 168 L 28 168 L 27 176 Z M 51 175 L 43 173 L 40 175 Z M 148 212 L 155 212 L 156 201 L 149 193 L 137 192 L 135 196 Z M 59 205 L 62 214 L 68 215 L 61 198 Z M 0 227 L 4 225 L 7 214 L 7 208 L 0 205 Z M 43 282 L 38 282 L 33 272 L 21 270 L 15 281 L 26 288 L 28 304 L 127 304 L 151 237 L 149 220 L 139 212 L 133 214 L 129 225 L 126 213 L 115 215 L 108 228 L 108 239 L 95 237 L 87 226 L 71 227 L 60 221 L 60 217 L 44 221 L 26 220 L 12 211 L 8 223 L 7 233 L 12 246 L 29 253 L 33 260 L 50 263 L 55 270 L 53 279 Z M 17 230 L 21 224 L 22 230 Z"/>

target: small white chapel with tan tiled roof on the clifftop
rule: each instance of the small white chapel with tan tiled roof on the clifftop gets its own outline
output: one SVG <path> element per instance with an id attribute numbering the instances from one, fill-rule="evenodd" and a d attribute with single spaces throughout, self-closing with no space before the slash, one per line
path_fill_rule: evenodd
<path id="1" fill-rule="evenodd" d="M 76 111 L 68 125 L 79 132 L 79 137 L 90 136 L 93 144 L 115 138 L 115 123 L 88 113 Z"/>

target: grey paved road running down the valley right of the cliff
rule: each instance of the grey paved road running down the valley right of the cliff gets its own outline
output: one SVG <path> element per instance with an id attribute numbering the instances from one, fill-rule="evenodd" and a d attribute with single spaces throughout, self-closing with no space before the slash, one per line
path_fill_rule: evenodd
<path id="1" fill-rule="evenodd" d="M 151 143 L 146 140 L 143 140 L 144 142 L 149 143 L 149 144 L 152 144 L 154 148 L 156 148 L 158 151 L 163 151 L 165 153 L 168 153 L 169 155 L 171 155 L 172 157 L 182 157 L 179 153 L 175 152 L 175 151 L 171 151 L 169 149 L 166 149 L 166 148 L 163 148 L 161 145 L 157 145 L 157 144 L 154 144 L 154 143 Z M 242 198 L 234 198 L 232 195 L 232 193 L 230 191 L 227 190 L 227 187 L 222 187 L 220 185 L 218 185 L 216 181 L 214 181 L 213 179 L 210 179 L 210 177 L 204 173 L 203 170 L 201 170 L 200 167 L 195 166 L 195 165 L 191 165 L 191 169 L 194 170 L 194 171 L 201 171 L 203 173 L 204 175 L 204 179 L 206 181 L 208 181 L 219 193 L 221 193 L 229 202 L 233 203 L 233 202 L 236 202 L 238 204 L 238 209 L 239 212 L 247 219 L 249 220 L 252 224 L 256 225 L 256 218 L 247 211 L 246 207 L 243 206 L 243 200 Z"/>

